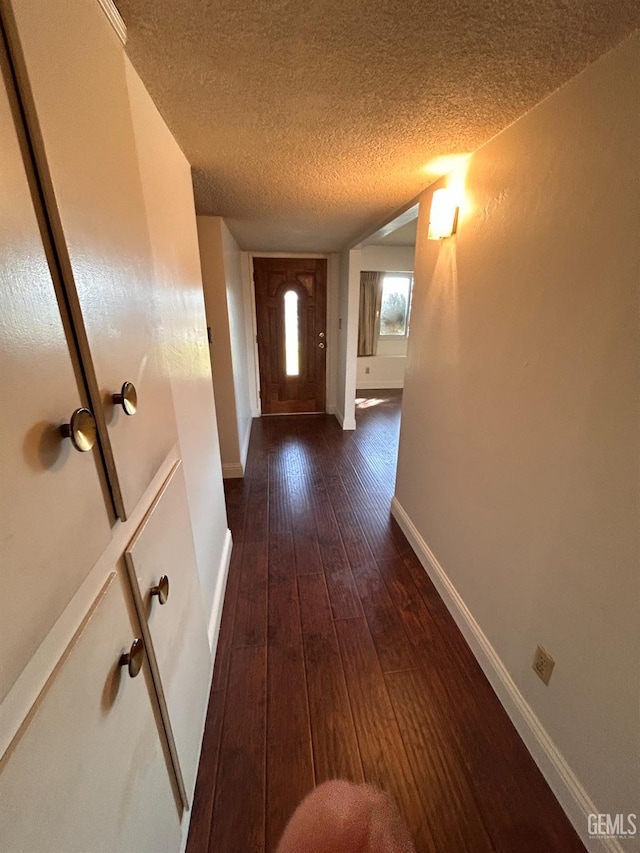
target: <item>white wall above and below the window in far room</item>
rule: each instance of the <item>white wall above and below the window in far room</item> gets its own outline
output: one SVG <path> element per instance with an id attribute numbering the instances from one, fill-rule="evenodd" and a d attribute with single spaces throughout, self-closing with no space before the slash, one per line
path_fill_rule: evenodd
<path id="1" fill-rule="evenodd" d="M 362 249 L 363 270 L 378 272 L 413 272 L 415 247 L 365 246 Z M 378 341 L 376 355 L 359 356 L 356 385 L 358 388 L 403 388 L 406 368 L 407 339 Z"/>

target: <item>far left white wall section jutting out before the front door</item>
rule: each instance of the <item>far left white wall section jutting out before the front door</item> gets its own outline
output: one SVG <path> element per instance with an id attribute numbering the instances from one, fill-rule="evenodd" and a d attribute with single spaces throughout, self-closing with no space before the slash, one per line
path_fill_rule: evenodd
<path id="1" fill-rule="evenodd" d="M 241 255 L 220 216 L 198 216 L 224 477 L 242 477 L 251 429 Z"/>

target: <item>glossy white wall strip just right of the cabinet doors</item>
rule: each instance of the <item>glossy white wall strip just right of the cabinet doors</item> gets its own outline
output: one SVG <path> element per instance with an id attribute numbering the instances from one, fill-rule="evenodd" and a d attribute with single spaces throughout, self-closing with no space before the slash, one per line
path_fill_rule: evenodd
<path id="1" fill-rule="evenodd" d="M 191 167 L 128 60 L 127 84 L 139 153 L 162 321 L 171 360 L 180 453 L 207 614 L 222 608 L 230 536 L 204 323 Z M 169 201 L 168 201 L 169 200 Z M 222 585 L 221 585 L 222 584 Z M 214 621 L 219 614 L 214 613 Z"/>

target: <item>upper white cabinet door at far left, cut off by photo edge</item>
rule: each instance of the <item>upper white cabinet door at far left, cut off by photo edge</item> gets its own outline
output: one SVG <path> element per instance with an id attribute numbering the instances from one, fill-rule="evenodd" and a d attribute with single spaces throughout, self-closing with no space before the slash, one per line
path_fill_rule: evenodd
<path id="1" fill-rule="evenodd" d="M 0 702 L 111 536 L 97 450 L 78 453 L 59 430 L 83 405 L 82 380 L 15 111 L 0 43 Z"/>

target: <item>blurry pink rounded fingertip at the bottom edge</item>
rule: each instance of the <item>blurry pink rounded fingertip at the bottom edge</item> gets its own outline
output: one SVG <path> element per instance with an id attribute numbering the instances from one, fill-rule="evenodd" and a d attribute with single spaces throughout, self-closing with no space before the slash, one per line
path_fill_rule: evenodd
<path id="1" fill-rule="evenodd" d="M 388 794 L 336 779 L 302 801 L 276 853 L 415 853 L 415 847 Z"/>

